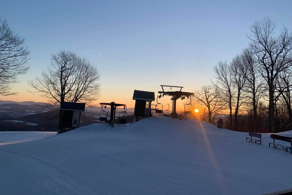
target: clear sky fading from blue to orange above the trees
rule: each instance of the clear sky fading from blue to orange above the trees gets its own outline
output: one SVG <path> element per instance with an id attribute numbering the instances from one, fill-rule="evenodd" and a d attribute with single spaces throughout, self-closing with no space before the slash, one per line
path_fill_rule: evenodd
<path id="1" fill-rule="evenodd" d="M 52 54 L 70 50 L 100 72 L 96 102 L 134 107 L 134 89 L 160 85 L 193 92 L 211 84 L 213 67 L 230 62 L 248 46 L 256 20 L 269 16 L 292 29 L 292 1 L 3 1 L 0 18 L 26 38 L 30 70 L 0 100 L 46 101 L 31 94 L 27 81 L 41 75 Z M 170 103 L 164 96 L 159 103 Z M 182 108 L 183 101 L 178 101 Z"/>

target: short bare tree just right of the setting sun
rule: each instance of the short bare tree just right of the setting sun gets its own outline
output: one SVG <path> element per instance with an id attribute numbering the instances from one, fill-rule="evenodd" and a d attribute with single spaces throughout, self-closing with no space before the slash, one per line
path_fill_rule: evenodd
<path id="1" fill-rule="evenodd" d="M 216 115 L 223 110 L 225 102 L 221 100 L 218 88 L 212 85 L 202 86 L 195 91 L 194 98 L 207 109 L 208 122 L 214 124 Z"/>

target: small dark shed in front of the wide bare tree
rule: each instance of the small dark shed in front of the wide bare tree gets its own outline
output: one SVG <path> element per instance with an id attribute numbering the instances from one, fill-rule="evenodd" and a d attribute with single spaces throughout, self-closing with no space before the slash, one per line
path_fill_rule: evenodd
<path id="1" fill-rule="evenodd" d="M 80 125 L 81 111 L 85 110 L 85 103 L 62 102 L 63 128 L 77 128 Z"/>

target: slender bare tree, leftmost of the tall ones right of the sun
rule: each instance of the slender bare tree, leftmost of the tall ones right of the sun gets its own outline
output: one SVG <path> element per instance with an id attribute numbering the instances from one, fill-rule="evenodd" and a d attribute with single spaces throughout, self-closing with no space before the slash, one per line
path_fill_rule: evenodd
<path id="1" fill-rule="evenodd" d="M 215 67 L 216 82 L 213 82 L 216 88 L 220 90 L 220 96 L 223 101 L 226 102 L 229 109 L 229 125 L 232 126 L 232 101 L 233 101 L 233 88 L 232 88 L 232 75 L 230 72 L 230 66 L 226 61 L 220 61 Z"/>

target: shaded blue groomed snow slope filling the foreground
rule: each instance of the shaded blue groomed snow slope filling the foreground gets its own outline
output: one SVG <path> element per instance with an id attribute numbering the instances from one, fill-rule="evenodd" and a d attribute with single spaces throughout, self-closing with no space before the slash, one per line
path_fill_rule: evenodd
<path id="1" fill-rule="evenodd" d="M 282 133 L 292 136 L 292 132 Z M 152 117 L 0 146 L 0 194 L 264 194 L 292 188 L 292 155 L 263 135 Z"/>

